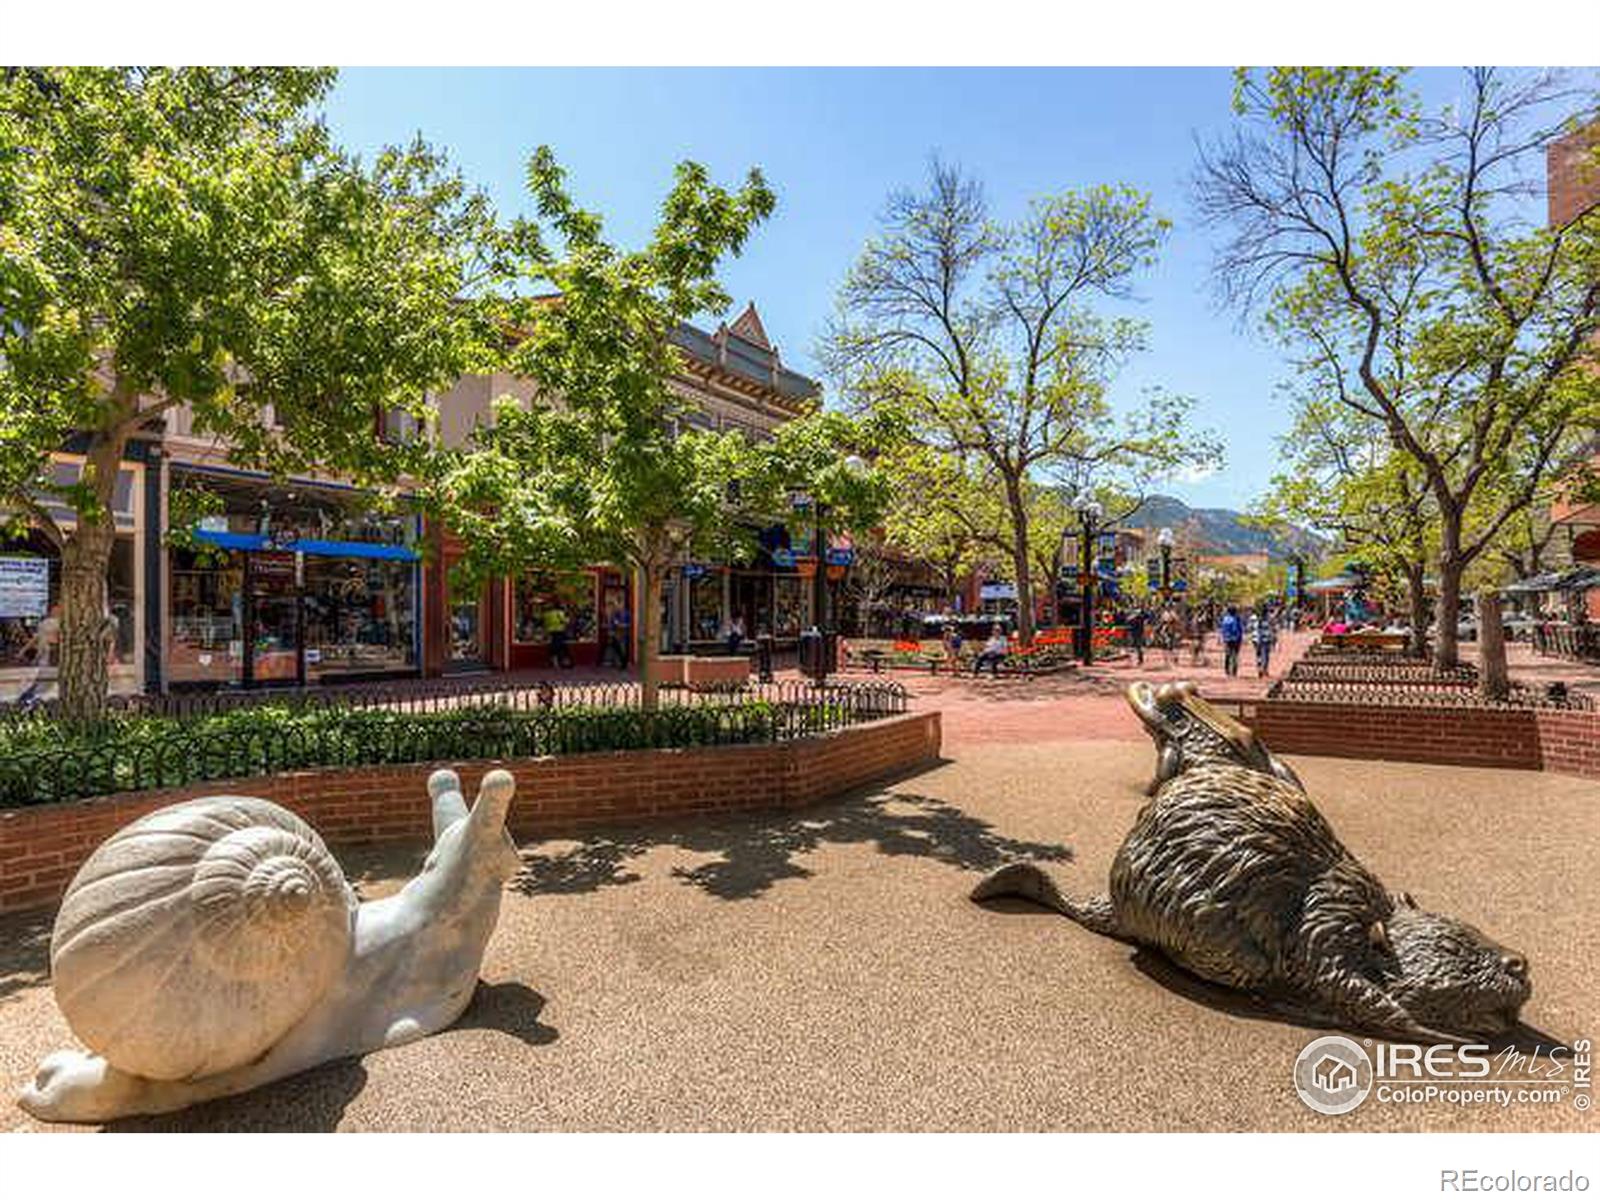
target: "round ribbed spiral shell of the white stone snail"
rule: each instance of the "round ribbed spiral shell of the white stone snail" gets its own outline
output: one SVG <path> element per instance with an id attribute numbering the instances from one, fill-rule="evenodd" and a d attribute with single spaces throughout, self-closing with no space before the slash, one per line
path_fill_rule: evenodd
<path id="1" fill-rule="evenodd" d="M 238 795 L 162 808 L 67 888 L 56 1003 L 122 1070 L 211 1075 L 259 1058 L 334 984 L 354 917 L 339 864 L 288 810 Z"/>

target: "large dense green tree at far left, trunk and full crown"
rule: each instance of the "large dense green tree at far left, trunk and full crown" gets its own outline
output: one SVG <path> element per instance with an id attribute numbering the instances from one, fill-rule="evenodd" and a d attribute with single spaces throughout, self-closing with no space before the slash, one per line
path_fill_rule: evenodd
<path id="1" fill-rule="evenodd" d="M 370 166 L 334 147 L 310 117 L 331 80 L 0 72 L 0 506 L 61 550 L 69 718 L 106 702 L 130 438 L 187 406 L 238 464 L 392 480 L 416 448 L 376 440 L 378 414 L 419 411 L 466 362 L 488 208 L 422 144 Z M 72 437 L 62 486 L 48 461 Z"/>

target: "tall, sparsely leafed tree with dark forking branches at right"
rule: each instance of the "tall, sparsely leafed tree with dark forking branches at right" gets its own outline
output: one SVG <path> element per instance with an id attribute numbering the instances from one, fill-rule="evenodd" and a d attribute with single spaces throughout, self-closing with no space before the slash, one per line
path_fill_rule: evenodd
<path id="1" fill-rule="evenodd" d="M 1528 206 L 1594 96 L 1547 74 L 1464 85 L 1424 117 L 1398 70 L 1240 70 L 1242 128 L 1197 176 L 1202 216 L 1229 230 L 1224 298 L 1266 301 L 1304 376 L 1379 424 L 1429 493 L 1440 666 L 1458 661 L 1462 573 L 1600 422 L 1600 200 L 1555 226 Z"/>

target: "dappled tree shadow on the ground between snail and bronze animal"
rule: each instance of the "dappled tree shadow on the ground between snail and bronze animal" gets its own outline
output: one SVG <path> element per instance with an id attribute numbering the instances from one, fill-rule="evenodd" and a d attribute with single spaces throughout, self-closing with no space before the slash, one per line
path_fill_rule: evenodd
<path id="1" fill-rule="evenodd" d="M 690 886 L 718 899 L 752 899 L 778 880 L 806 878 L 797 859 L 824 843 L 866 843 L 880 854 L 930 858 L 963 870 L 989 870 L 1018 858 L 1066 862 L 1067 846 L 1003 837 L 954 805 L 917 792 L 858 792 L 798 813 L 741 814 L 597 830 L 573 850 L 523 850 L 523 870 L 512 886 L 525 894 L 581 893 L 635 883 L 630 859 L 656 846 L 717 854 L 696 867 L 674 867 Z"/>

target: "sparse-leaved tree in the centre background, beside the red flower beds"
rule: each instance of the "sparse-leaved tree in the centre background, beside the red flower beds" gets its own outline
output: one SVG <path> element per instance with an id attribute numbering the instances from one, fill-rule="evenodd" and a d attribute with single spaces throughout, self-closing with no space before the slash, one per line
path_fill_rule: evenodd
<path id="1" fill-rule="evenodd" d="M 1138 322 L 1086 307 L 1126 298 L 1168 222 L 1131 187 L 1062 192 L 990 219 L 979 184 L 934 162 L 928 189 L 890 197 L 838 294 L 822 358 L 848 402 L 894 408 L 915 437 L 994 480 L 1006 512 L 1018 624 L 1032 638 L 1029 482 L 1210 462 L 1189 405 L 1154 394 L 1118 418 L 1106 392 L 1142 344 Z"/>

